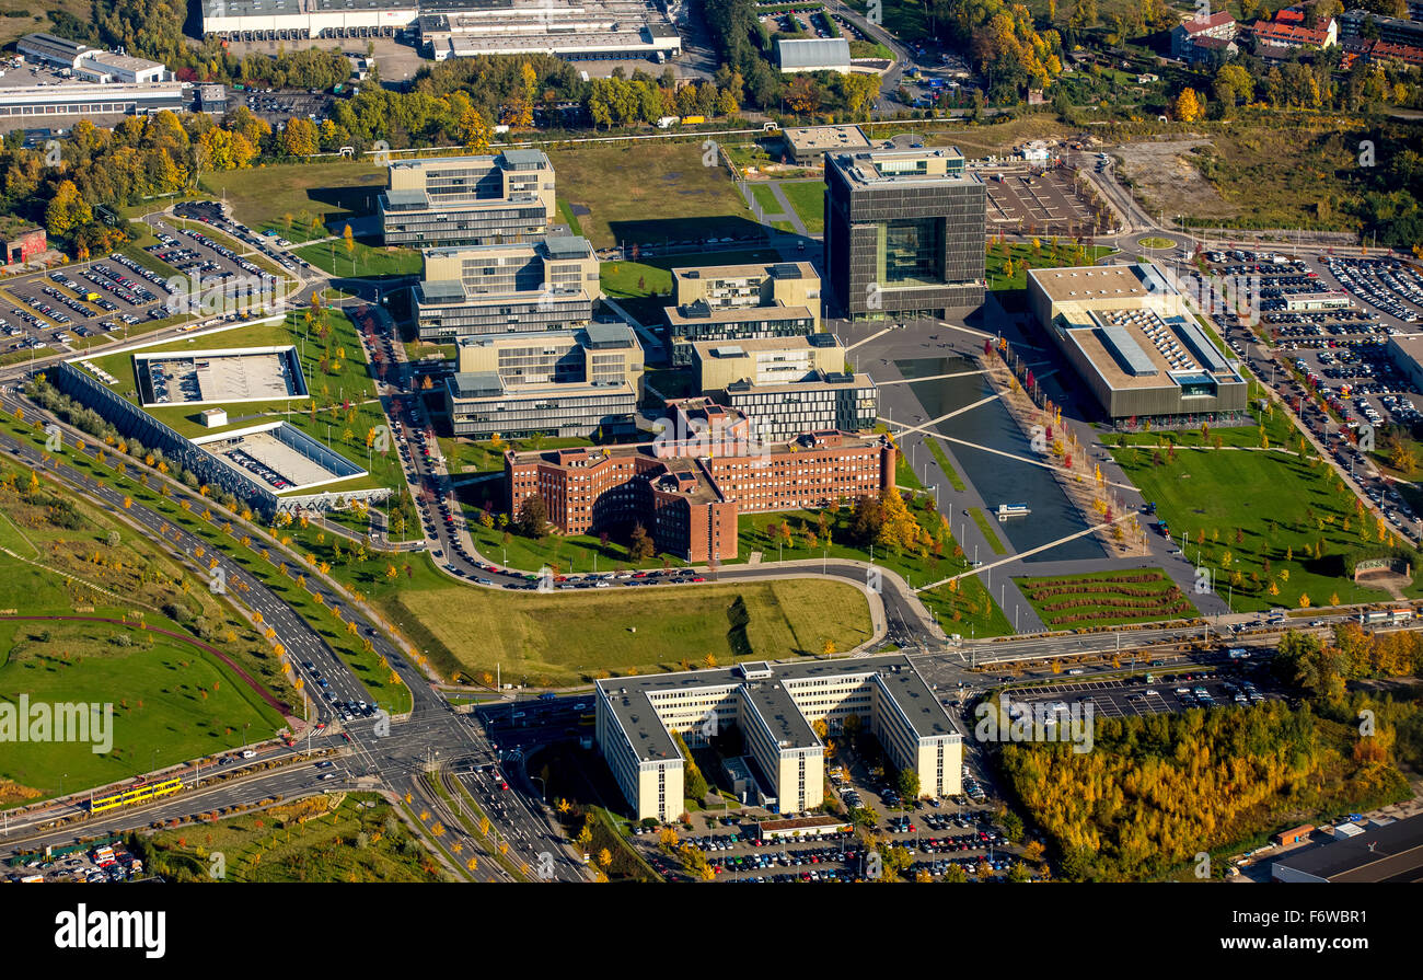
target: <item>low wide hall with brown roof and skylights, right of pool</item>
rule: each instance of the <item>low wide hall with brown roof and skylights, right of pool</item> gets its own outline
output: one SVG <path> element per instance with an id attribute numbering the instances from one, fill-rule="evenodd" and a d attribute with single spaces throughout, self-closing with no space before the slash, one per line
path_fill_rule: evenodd
<path id="1" fill-rule="evenodd" d="M 1245 413 L 1248 383 L 1151 265 L 1029 269 L 1027 306 L 1114 424 Z"/>

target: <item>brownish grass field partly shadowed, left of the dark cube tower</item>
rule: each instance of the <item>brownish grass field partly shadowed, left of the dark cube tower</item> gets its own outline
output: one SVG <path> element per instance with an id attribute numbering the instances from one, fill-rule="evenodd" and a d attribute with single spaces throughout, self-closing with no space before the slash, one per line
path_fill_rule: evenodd
<path id="1" fill-rule="evenodd" d="M 595 248 L 758 234 L 726 168 L 700 142 L 549 150 L 559 197 L 588 208 L 578 221 Z"/>

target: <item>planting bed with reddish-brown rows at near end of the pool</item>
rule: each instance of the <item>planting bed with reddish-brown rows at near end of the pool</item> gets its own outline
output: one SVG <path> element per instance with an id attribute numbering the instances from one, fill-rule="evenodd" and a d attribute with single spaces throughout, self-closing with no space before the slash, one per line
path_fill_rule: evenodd
<path id="1" fill-rule="evenodd" d="M 1195 607 L 1160 568 L 1094 571 L 1081 575 L 1015 578 L 1043 622 L 1053 630 L 1076 625 L 1191 618 Z"/>

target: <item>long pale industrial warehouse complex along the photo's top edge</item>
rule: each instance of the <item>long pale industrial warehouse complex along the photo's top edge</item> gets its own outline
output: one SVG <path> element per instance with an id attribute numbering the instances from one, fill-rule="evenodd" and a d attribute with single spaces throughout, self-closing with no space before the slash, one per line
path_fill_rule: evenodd
<path id="1" fill-rule="evenodd" d="M 666 13 L 642 0 L 203 0 L 202 31 L 243 41 L 413 31 L 435 61 L 535 51 L 666 61 L 682 53 Z"/>

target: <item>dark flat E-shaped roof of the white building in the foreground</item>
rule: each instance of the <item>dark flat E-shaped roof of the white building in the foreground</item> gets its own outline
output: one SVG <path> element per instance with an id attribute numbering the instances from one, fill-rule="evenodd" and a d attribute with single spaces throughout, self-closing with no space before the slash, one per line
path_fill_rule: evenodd
<path id="1" fill-rule="evenodd" d="M 740 688 L 781 748 L 811 748 L 821 745 L 821 741 L 805 715 L 795 707 L 785 684 L 845 677 L 865 681 L 878 677 L 921 738 L 959 736 L 959 731 L 933 697 L 933 691 L 902 654 L 785 664 L 754 662 L 707 671 L 620 677 L 598 681 L 596 685 L 628 734 L 633 752 L 640 761 L 653 762 L 675 759 L 679 752 L 672 735 L 657 718 L 649 695 L 667 691 L 694 692 L 703 688 Z"/>

